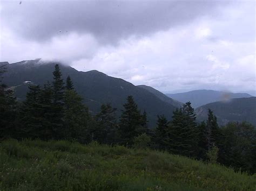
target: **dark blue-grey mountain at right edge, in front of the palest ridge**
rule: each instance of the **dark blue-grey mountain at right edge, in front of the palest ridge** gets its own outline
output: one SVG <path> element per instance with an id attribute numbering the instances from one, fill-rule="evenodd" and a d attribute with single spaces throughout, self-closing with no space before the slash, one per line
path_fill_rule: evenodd
<path id="1" fill-rule="evenodd" d="M 208 103 L 196 109 L 197 119 L 207 119 L 208 109 L 218 118 L 220 125 L 232 121 L 247 121 L 256 125 L 256 97 L 234 98 L 227 102 Z"/>

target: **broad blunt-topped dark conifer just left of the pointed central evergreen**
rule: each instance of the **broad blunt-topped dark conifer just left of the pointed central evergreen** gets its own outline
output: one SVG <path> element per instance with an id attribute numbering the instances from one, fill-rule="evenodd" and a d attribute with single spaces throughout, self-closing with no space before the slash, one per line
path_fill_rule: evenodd
<path id="1" fill-rule="evenodd" d="M 117 121 L 116 108 L 112 108 L 110 103 L 102 104 L 100 112 L 96 115 L 96 127 L 92 130 L 93 140 L 104 144 L 114 144 L 117 142 Z"/>

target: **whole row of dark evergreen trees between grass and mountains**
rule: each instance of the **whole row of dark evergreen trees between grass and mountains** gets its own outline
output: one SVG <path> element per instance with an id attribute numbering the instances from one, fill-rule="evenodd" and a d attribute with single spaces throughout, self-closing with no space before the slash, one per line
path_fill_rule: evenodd
<path id="1" fill-rule="evenodd" d="M 155 129 L 147 126 L 146 111 L 138 109 L 132 96 L 116 108 L 102 104 L 93 116 L 73 87 L 71 77 L 62 79 L 59 66 L 53 81 L 43 86 L 30 84 L 26 99 L 18 102 L 14 92 L 1 83 L 5 72 L 0 67 L 0 138 L 70 140 L 87 144 L 150 147 L 186 157 L 219 162 L 237 171 L 256 172 L 256 131 L 246 122 L 219 127 L 217 117 L 208 110 L 207 121 L 198 123 L 191 103 L 173 111 L 172 120 L 157 116 Z"/>

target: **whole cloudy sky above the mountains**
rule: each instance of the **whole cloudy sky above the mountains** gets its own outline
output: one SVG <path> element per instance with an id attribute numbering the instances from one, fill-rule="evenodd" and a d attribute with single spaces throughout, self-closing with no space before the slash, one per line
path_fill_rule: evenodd
<path id="1" fill-rule="evenodd" d="M 255 1 L 2 1 L 0 61 L 41 58 L 164 93 L 256 96 Z"/>

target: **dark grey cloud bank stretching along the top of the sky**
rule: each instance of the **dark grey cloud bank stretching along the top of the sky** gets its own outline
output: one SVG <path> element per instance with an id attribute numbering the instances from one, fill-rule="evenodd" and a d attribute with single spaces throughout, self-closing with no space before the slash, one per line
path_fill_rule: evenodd
<path id="1" fill-rule="evenodd" d="M 219 1 L 17 1 L 2 3 L 1 18 L 27 39 L 49 40 L 59 33 L 91 33 L 102 43 L 144 36 L 216 15 Z M 7 24 L 6 24 L 7 25 Z"/>

